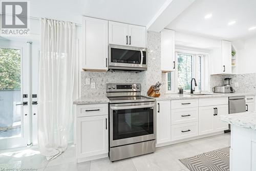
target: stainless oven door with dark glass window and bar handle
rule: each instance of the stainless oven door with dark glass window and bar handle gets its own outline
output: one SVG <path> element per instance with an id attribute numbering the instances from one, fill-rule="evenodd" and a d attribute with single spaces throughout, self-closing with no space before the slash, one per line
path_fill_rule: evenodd
<path id="1" fill-rule="evenodd" d="M 110 146 L 156 139 L 155 102 L 110 105 Z"/>

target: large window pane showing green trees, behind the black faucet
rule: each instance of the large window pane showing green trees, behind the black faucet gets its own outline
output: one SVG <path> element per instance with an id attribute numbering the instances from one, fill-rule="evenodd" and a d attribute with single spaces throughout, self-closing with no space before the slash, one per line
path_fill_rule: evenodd
<path id="1" fill-rule="evenodd" d="M 178 87 L 184 90 L 190 90 L 190 81 L 193 71 L 193 56 L 178 54 Z"/>

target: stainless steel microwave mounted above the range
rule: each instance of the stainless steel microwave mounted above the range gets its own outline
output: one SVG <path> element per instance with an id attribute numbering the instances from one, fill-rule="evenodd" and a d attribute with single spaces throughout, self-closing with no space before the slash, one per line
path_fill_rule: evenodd
<path id="1" fill-rule="evenodd" d="M 110 44 L 109 70 L 147 70 L 147 49 Z"/>

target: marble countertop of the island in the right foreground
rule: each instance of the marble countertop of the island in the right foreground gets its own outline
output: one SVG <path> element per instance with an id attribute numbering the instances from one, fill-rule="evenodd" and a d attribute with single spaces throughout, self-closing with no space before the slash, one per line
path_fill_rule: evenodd
<path id="1" fill-rule="evenodd" d="M 243 112 L 230 115 L 220 115 L 220 119 L 229 124 L 247 127 L 256 131 L 256 112 Z"/>

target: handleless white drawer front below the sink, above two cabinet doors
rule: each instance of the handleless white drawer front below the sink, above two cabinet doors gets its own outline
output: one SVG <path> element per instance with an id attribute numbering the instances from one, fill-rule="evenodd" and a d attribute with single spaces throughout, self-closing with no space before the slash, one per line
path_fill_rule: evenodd
<path id="1" fill-rule="evenodd" d="M 228 97 L 202 98 L 199 99 L 199 106 L 228 104 Z"/>

